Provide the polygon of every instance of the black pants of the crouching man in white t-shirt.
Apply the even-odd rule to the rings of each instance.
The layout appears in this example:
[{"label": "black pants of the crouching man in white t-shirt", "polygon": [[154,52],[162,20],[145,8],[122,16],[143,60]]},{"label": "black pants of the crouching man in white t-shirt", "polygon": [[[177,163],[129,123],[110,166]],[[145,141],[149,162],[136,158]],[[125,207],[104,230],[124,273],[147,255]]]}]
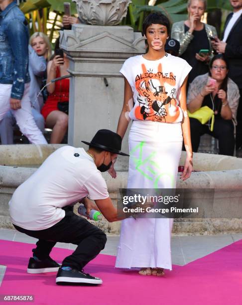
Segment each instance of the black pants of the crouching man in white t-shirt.
[{"label": "black pants of the crouching man in white t-shirt", "polygon": [[33,255],[40,260],[49,256],[56,242],[78,245],[72,255],[63,260],[62,266],[82,270],[104,249],[107,237],[102,230],[86,219],[71,211],[65,211],[65,213],[65,217],[61,221],[48,229],[31,231],[15,225],[14,227],[19,232],[39,239],[36,243],[37,248],[32,251]]}]

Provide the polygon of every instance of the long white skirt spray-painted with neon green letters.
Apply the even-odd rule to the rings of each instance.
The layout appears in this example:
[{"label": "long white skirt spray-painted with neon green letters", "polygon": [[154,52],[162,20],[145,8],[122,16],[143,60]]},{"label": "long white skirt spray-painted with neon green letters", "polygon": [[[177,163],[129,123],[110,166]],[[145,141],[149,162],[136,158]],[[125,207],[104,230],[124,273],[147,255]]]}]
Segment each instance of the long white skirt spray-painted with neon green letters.
[{"label": "long white skirt spray-painted with neon green letters", "polygon": [[[133,121],[127,188],[175,188],[182,149],[181,123]],[[116,267],[172,270],[170,218],[127,218],[121,223]]]}]

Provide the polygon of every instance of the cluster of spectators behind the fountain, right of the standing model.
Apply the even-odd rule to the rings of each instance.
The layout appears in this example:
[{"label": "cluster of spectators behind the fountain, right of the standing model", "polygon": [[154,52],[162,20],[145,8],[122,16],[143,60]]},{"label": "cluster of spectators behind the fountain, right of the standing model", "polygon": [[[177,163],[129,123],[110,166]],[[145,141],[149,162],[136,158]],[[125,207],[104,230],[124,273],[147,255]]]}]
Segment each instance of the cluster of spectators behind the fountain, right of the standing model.
[{"label": "cluster of spectators behind the fountain, right of the standing model", "polygon": [[190,113],[208,106],[211,120],[202,124],[190,118],[191,141],[198,151],[200,137],[218,139],[219,153],[234,155],[242,149],[242,0],[230,0],[233,8],[220,40],[216,28],[201,21],[206,0],[188,0],[188,19],[173,24],[171,38],[180,43],[179,56],[192,67],[188,78],[187,104]]}]

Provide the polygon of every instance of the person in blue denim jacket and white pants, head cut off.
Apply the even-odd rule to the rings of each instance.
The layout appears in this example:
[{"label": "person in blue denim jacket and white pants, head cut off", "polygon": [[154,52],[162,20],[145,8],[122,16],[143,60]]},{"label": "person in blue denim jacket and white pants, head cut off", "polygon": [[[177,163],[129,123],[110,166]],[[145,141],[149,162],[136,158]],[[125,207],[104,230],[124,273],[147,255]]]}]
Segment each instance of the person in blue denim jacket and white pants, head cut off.
[{"label": "person in blue denim jacket and white pants, head cut off", "polygon": [[28,27],[15,1],[0,1],[0,121],[11,109],[32,144],[47,144],[29,101]]}]

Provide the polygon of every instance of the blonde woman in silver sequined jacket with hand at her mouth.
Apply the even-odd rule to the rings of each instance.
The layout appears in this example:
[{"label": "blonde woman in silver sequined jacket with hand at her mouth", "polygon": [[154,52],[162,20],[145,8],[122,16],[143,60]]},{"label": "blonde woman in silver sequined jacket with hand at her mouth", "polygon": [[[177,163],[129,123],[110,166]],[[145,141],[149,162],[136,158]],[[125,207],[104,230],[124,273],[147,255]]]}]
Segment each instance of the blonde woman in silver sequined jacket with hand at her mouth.
[{"label": "blonde woman in silver sequined jacket with hand at her mouth", "polygon": [[188,0],[188,19],[175,22],[171,29],[171,38],[180,42],[179,56],[193,67],[188,84],[196,76],[208,72],[212,54],[210,37],[218,36],[214,26],[201,21],[206,7],[206,0]]}]

